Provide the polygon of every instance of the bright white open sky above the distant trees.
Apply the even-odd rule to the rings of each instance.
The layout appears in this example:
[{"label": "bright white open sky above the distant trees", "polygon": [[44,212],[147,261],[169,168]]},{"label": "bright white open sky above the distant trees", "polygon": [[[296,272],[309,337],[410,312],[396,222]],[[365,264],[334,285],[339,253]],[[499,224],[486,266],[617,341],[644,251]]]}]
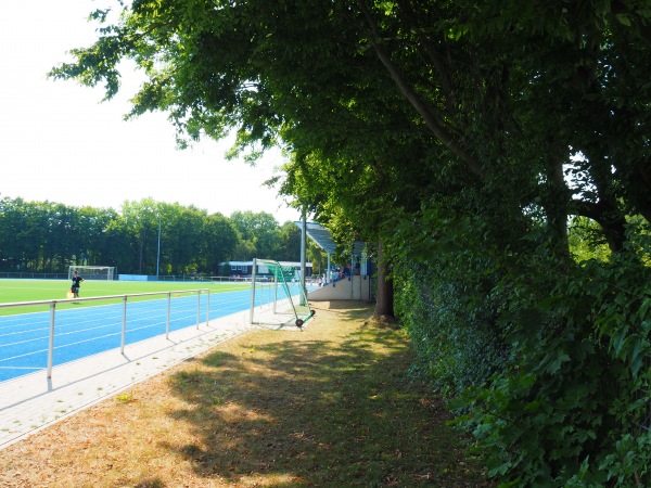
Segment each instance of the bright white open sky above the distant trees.
[{"label": "bright white open sky above the distant trees", "polygon": [[116,209],[152,197],[226,216],[252,210],[281,223],[298,220],[276,191],[261,187],[282,164],[279,152],[252,168],[225,159],[226,141],[178,151],[165,114],[124,121],[140,82],[130,69],[117,98],[104,103],[101,88],[46,78],[52,66],[71,61],[66,51],[93,41],[95,25],[86,18],[102,3],[0,3],[0,197]]}]

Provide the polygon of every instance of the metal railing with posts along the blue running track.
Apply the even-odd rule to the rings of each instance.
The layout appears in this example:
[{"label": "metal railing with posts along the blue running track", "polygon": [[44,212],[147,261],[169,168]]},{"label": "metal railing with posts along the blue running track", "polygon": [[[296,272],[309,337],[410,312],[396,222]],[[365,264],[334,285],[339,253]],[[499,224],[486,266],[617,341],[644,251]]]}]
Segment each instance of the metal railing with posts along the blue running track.
[{"label": "metal railing with posts along the blue running track", "polygon": [[[20,301],[20,303],[10,303],[10,304],[0,304],[0,308],[15,308],[15,307],[31,307],[31,306],[48,306],[50,310],[50,324],[49,324],[49,341],[48,341],[48,361],[47,361],[47,371],[48,378],[52,377],[52,367],[53,367],[53,358],[54,358],[54,330],[56,322],[56,305],[59,304],[78,304],[85,301],[99,301],[99,300],[122,300],[123,309],[122,309],[122,332],[120,332],[120,354],[125,352],[126,345],[126,335],[127,335],[127,304],[129,298],[133,297],[148,297],[155,295],[166,295],[167,296],[167,308],[166,308],[166,320],[165,320],[165,338],[169,338],[169,323],[170,323],[170,314],[171,314],[171,297],[173,295],[178,296],[181,294],[196,294],[196,329],[201,323],[201,296],[202,293],[205,293],[207,296],[206,304],[206,324],[209,322],[210,318],[210,291],[209,288],[197,288],[197,290],[182,290],[176,292],[152,292],[152,293],[136,293],[128,295],[108,295],[108,296],[98,296],[98,297],[89,297],[89,298],[66,298],[66,299],[53,299],[53,300],[39,300],[39,301]],[[139,300],[137,303],[142,303]],[[69,309],[67,309],[69,310]]]}]

